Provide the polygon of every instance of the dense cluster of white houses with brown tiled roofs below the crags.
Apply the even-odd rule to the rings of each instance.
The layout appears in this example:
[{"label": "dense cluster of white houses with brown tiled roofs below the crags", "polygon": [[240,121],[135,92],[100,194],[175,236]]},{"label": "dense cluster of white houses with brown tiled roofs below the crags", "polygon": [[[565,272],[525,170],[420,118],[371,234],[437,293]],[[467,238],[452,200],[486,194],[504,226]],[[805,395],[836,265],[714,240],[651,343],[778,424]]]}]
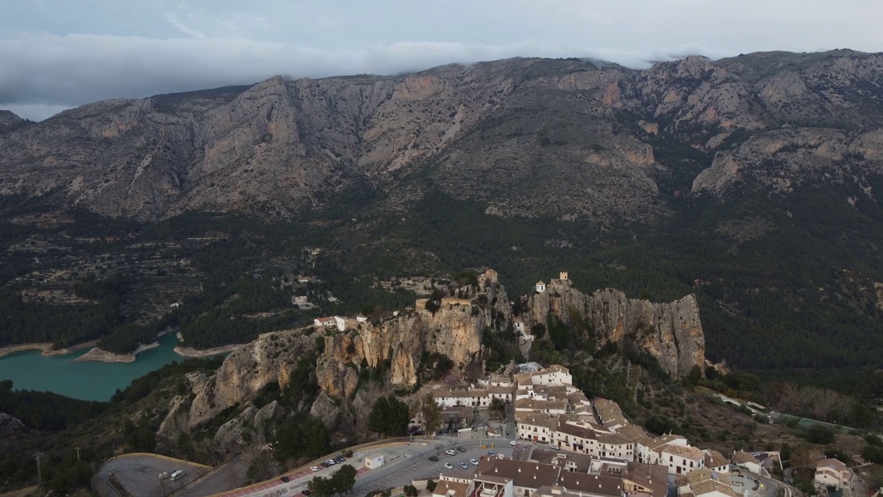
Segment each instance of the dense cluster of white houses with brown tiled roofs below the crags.
[{"label": "dense cluster of white houses with brown tiled roofs below the crags", "polygon": [[665,497],[669,479],[685,497],[742,497],[728,478],[730,468],[768,478],[763,461],[778,457],[743,451],[725,457],[677,434],[652,437],[630,424],[615,401],[586,398],[557,364],[519,364],[511,375],[487,375],[467,390],[432,395],[449,418],[470,417],[495,400],[511,404],[517,431],[511,446],[535,447],[524,460],[488,458],[468,477],[442,472],[433,493],[439,497]]}]

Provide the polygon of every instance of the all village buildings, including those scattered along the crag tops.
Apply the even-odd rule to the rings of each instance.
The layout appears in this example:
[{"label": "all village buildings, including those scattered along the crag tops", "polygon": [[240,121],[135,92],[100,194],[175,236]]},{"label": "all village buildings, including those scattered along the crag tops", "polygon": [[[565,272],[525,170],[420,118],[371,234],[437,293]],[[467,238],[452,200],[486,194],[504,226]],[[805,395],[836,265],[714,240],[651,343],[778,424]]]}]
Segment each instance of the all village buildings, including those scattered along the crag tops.
[{"label": "all village buildings, including those scattered along the crag tops", "polygon": [[[561,271],[558,280],[568,278]],[[485,271],[479,286],[494,279],[495,271]],[[537,282],[536,293],[546,290],[545,282]],[[410,309],[424,310],[426,302],[419,299]],[[444,307],[471,301],[446,297],[440,303]],[[392,316],[396,315],[398,311]],[[367,320],[359,313],[317,317],[313,325],[345,332]],[[513,325],[519,345],[529,348],[533,337],[524,322],[514,317]],[[446,465],[434,497],[773,497],[797,492],[772,477],[774,466],[782,470],[778,452],[738,450],[723,455],[694,447],[676,433],[654,437],[631,424],[615,401],[586,397],[573,385],[568,368],[559,364],[510,364],[468,385],[434,388],[431,395],[447,426],[442,435],[474,437],[471,432],[479,426],[481,436],[514,449],[510,456],[498,450],[480,462],[472,459],[472,471]],[[486,424],[492,409],[504,413],[498,426]],[[411,429],[419,428],[421,421],[418,413]],[[466,469],[466,464],[459,465]],[[837,459],[816,462],[813,483],[821,491],[850,497],[858,479]]]}]

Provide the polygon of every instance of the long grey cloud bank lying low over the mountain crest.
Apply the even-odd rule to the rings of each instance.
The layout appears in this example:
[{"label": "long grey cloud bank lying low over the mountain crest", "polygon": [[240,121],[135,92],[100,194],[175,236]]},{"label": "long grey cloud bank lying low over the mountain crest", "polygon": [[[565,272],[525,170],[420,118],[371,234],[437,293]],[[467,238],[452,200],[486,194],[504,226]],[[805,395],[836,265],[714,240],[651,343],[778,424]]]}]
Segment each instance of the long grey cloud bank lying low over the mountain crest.
[{"label": "long grey cloud bank lying low over the mountain crest", "polygon": [[[174,18],[172,18],[174,19]],[[187,30],[184,25],[182,31]],[[141,98],[162,93],[248,84],[275,74],[288,78],[376,73],[398,74],[453,62],[504,57],[592,57],[631,67],[674,50],[592,50],[536,42],[479,45],[453,42],[374,44],[360,50],[321,50],[283,42],[240,38],[156,39],[108,34],[19,34],[0,38],[0,108],[30,119],[45,112],[106,98]]]}]

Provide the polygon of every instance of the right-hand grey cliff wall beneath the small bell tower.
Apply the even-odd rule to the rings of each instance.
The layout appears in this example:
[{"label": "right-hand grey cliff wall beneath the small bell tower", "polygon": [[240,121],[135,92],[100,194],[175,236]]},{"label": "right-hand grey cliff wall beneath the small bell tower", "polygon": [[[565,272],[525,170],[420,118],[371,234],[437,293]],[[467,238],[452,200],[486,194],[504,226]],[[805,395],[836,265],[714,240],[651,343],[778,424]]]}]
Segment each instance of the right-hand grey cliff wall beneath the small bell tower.
[{"label": "right-hand grey cliff wall beneath the small bell tower", "polygon": [[599,346],[626,337],[656,357],[662,369],[675,378],[704,367],[705,334],[696,298],[687,295],[669,303],[628,299],[614,289],[583,294],[568,280],[554,279],[545,292],[528,299],[525,327],[547,324],[549,315],[570,324],[571,311],[583,317],[597,334]]}]

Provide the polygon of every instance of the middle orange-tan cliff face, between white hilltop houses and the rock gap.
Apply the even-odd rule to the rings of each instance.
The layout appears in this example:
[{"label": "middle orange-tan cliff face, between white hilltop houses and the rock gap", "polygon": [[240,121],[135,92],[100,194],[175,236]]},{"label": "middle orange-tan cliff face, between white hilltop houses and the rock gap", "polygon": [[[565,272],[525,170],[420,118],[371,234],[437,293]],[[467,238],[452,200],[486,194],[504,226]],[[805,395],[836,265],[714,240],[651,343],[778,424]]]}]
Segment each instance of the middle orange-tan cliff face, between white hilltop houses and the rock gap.
[{"label": "middle orange-tan cliff face, between white hilltop houses and the rock gap", "polygon": [[350,399],[363,360],[372,368],[388,363],[393,385],[412,386],[424,353],[443,354],[463,368],[480,360],[483,333],[501,329],[510,320],[505,289],[489,284],[471,304],[442,303],[434,313],[415,310],[378,324],[361,323],[348,333],[329,334],[316,366],[319,386],[328,394]]}]

